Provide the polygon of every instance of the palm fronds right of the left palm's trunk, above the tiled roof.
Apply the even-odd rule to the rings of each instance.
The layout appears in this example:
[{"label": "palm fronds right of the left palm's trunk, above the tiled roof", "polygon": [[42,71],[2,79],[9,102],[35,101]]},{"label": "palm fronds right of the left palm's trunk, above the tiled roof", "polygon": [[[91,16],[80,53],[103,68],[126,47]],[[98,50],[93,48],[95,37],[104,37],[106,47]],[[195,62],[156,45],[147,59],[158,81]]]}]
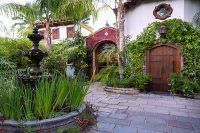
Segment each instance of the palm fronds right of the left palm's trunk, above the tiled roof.
[{"label": "palm fronds right of the left palm's trunk, above the tiled roof", "polygon": [[78,31],[83,27],[92,32],[93,28],[89,26],[88,21],[91,16],[93,21],[97,19],[98,10],[93,0],[76,0],[76,2],[68,0],[60,7],[59,14],[62,15],[61,18],[72,20],[77,25]]}]

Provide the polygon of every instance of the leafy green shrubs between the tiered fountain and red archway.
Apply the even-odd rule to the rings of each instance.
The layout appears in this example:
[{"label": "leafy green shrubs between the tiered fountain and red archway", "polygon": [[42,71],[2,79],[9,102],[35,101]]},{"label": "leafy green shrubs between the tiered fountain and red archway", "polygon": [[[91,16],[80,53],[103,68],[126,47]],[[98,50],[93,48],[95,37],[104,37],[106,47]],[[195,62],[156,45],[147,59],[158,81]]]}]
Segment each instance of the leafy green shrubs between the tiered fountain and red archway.
[{"label": "leafy green shrubs between the tiered fountain and red archway", "polygon": [[63,71],[66,69],[66,63],[73,63],[77,74],[80,70],[85,71],[88,67],[89,53],[84,45],[84,37],[76,32],[72,40],[52,45],[49,56],[42,62],[42,67],[49,72]]}]

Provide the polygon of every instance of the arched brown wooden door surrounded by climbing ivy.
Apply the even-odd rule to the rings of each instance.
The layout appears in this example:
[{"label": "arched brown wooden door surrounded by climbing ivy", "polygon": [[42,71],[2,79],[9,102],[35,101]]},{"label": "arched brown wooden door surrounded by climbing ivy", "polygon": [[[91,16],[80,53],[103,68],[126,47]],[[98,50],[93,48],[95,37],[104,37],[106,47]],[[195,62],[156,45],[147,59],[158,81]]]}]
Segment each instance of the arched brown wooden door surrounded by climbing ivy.
[{"label": "arched brown wooden door surrounded by climbing ivy", "polygon": [[176,45],[155,45],[147,51],[147,73],[151,76],[151,91],[167,92],[170,73],[179,73],[180,50]]}]

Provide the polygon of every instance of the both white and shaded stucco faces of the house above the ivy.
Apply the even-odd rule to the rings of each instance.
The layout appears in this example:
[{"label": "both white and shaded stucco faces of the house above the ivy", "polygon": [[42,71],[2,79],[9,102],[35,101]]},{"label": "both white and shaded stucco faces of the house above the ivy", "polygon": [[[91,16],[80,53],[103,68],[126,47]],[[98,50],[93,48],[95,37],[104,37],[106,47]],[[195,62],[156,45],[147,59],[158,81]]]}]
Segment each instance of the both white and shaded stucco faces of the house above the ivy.
[{"label": "both white and shaded stucco faces of the house above the ivy", "polygon": [[[168,14],[162,4],[169,4],[172,13]],[[200,12],[200,0],[127,0],[125,3],[125,36],[130,35],[131,39],[135,39],[149,23],[163,21],[156,19],[153,14],[158,6],[160,6],[158,13],[163,11],[169,15],[166,19],[179,18],[192,22],[194,15]]]}]

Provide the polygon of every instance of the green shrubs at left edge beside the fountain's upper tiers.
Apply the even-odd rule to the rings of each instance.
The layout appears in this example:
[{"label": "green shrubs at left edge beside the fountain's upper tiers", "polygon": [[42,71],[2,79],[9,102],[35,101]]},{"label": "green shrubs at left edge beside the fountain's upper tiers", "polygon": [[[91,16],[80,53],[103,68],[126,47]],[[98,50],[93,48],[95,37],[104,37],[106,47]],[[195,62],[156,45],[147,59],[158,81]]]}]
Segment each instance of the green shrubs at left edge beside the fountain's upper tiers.
[{"label": "green shrubs at left edge beside the fountain's upper tiers", "polygon": [[[28,39],[0,38],[0,58],[4,58],[7,62],[10,62],[9,64],[17,68],[28,66],[29,60],[22,54],[30,49],[31,42]],[[6,64],[8,65],[8,63]]]}]

